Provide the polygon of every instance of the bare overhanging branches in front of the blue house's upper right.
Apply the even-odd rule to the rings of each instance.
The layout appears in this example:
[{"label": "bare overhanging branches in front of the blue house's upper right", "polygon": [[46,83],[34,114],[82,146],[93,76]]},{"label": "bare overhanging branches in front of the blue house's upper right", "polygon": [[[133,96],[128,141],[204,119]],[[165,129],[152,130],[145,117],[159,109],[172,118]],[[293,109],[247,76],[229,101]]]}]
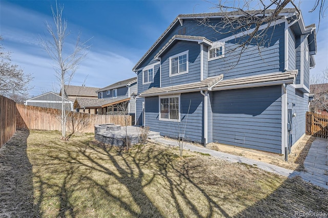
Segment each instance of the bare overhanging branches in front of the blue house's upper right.
[{"label": "bare overhanging branches in front of the blue house's upper right", "polygon": [[[235,40],[234,45],[225,51],[230,55],[226,55],[224,58],[234,60],[229,65],[222,67],[227,69],[234,68],[245,51],[258,50],[257,52],[261,56],[262,49],[271,43],[270,27],[276,24],[278,19],[283,18],[280,13],[284,12],[285,8],[294,8],[298,13],[297,16],[300,14],[299,5],[294,0],[219,0],[217,4],[212,4],[212,8],[220,14],[220,21],[212,22],[211,15],[198,21],[201,25],[210,27],[217,33],[235,36],[231,37]],[[318,28],[326,9],[325,0],[316,0],[314,7],[310,10],[310,12],[319,10]]]}]

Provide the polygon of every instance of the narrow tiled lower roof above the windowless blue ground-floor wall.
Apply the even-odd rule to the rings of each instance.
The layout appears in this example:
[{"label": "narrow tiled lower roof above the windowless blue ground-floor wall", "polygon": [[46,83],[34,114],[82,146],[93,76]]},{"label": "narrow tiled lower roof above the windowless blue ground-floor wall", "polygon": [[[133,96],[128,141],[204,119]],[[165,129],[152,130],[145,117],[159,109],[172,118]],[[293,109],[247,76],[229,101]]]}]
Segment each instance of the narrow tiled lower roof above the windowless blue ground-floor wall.
[{"label": "narrow tiled lower roof above the windowless blue ground-floor wall", "polygon": [[213,91],[242,89],[278,84],[292,84],[296,78],[297,70],[246,76],[220,81],[213,87]]}]

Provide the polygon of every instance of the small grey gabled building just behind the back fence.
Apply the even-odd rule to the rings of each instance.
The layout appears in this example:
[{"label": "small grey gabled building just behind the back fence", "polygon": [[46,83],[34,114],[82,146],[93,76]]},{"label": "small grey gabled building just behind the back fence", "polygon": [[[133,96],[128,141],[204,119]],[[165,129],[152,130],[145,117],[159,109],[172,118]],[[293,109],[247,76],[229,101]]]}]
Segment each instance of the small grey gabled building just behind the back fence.
[{"label": "small grey gabled building just behind the back fence", "polygon": [[[35,96],[33,98],[29,98],[24,101],[25,105],[32,105],[38,107],[49,107],[61,110],[61,96],[57,95],[53,92],[47,92],[42,95]],[[65,99],[65,110],[72,111],[73,110],[73,101],[69,99]]]}]

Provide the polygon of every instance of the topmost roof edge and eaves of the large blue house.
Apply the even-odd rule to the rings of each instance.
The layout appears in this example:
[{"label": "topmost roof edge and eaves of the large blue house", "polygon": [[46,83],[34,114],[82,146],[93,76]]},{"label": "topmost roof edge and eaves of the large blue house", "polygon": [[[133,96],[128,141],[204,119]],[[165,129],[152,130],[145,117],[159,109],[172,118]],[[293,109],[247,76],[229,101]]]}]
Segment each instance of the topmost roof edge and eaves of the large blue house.
[{"label": "topmost roof edge and eaves of the large blue house", "polygon": [[[273,14],[276,13],[275,9],[268,9],[265,10],[265,14]],[[295,15],[297,12],[294,8],[285,8],[282,9],[280,11],[280,15],[285,15],[285,16],[293,16]],[[150,53],[157,47],[157,45],[159,44],[159,42],[166,36],[166,34],[172,29],[173,26],[175,26],[178,22],[180,23],[180,25],[182,26],[183,24],[183,19],[203,19],[206,17],[211,17],[211,18],[216,18],[216,17],[223,17],[223,16],[263,16],[263,11],[262,10],[252,10],[252,11],[231,11],[228,13],[199,13],[199,14],[179,14],[174,20],[173,22],[169,25],[169,27],[159,36],[159,38],[154,42],[154,44],[149,48],[149,50],[144,54],[144,56],[142,56],[140,58],[140,60],[135,64],[135,66],[133,67],[132,71],[136,71],[139,67],[140,64],[150,55]],[[301,23],[301,29],[302,31],[310,31],[310,33],[312,33],[312,31],[315,29],[315,25],[309,25],[309,26],[304,26],[304,22],[302,17],[300,16],[300,19],[298,20],[298,22]],[[312,35],[312,34],[311,34]],[[315,39],[315,31],[313,34],[313,47],[316,50],[316,39]],[[195,36],[197,37],[197,36]],[[312,36],[310,36],[312,37]],[[313,53],[315,54],[315,52]],[[157,54],[155,55],[155,57],[158,57]],[[312,58],[312,64],[314,66],[314,58]]]}]

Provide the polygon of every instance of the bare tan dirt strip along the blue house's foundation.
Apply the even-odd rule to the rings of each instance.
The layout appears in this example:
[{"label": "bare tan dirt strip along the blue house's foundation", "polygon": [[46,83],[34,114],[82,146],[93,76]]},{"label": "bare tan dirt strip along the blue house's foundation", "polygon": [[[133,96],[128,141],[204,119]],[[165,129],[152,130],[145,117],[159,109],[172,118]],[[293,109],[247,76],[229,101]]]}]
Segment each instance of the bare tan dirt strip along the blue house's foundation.
[{"label": "bare tan dirt strip along the blue house's foundation", "polygon": [[288,156],[288,162],[284,160],[283,155],[273,154],[270,152],[257,151],[236,146],[223,145],[219,143],[210,143],[206,147],[209,149],[225,152],[232,155],[242,156],[265,163],[274,164],[286,169],[304,171],[304,160],[314,141],[312,136],[303,136],[301,140],[292,146],[292,152]]}]

